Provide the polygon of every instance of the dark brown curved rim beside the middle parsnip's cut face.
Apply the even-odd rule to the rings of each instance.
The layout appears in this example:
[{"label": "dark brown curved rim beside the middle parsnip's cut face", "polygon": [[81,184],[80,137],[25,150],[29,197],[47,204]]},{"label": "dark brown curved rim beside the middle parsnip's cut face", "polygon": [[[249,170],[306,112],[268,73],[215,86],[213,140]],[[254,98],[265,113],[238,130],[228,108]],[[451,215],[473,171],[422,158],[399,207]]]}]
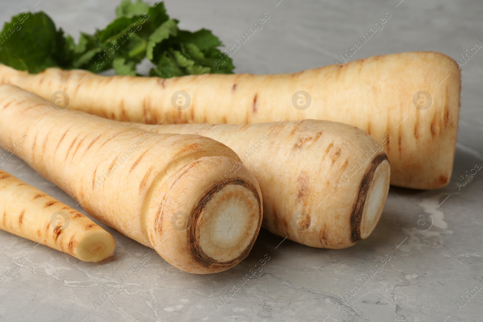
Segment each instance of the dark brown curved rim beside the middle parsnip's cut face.
[{"label": "dark brown curved rim beside the middle parsnip's cut face", "polygon": [[364,211],[364,204],[366,203],[367,194],[369,192],[370,183],[374,178],[374,173],[376,172],[376,168],[387,159],[387,155],[385,153],[381,153],[376,155],[371,162],[370,167],[367,169],[362,181],[359,185],[359,193],[357,194],[357,198],[355,199],[354,206],[352,207],[351,212],[351,241],[357,242],[361,240],[361,222],[362,222],[362,213]]}]

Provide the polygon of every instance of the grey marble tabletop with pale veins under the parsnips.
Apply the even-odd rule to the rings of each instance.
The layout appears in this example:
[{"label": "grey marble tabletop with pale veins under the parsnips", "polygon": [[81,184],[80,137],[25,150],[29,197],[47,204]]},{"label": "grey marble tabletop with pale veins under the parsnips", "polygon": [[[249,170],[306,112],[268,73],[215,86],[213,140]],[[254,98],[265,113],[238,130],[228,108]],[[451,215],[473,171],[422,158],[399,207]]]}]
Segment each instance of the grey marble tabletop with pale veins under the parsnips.
[{"label": "grey marble tabletop with pale veins under the parsnips", "polygon": [[[0,20],[43,10],[77,36],[80,30],[102,28],[117,5],[117,0],[37,1],[1,1]],[[237,72],[293,72],[331,64],[385,13],[391,17],[384,28],[354,59],[413,50],[460,59],[476,42],[483,44],[480,0],[279,1],[168,1],[166,7],[181,28],[210,28],[230,47],[269,13],[263,28],[234,54]],[[376,229],[355,246],[315,249],[262,229],[241,264],[198,276],[102,224],[117,243],[103,264],[84,263],[0,231],[0,275],[23,258],[0,284],[0,321],[482,321],[483,291],[476,290],[483,287],[483,173],[457,185],[476,163],[483,165],[482,62],[478,51],[461,67],[450,184],[436,191],[391,187]],[[2,168],[72,207],[77,204],[14,156]],[[429,230],[414,224],[418,213],[433,218]],[[270,259],[263,270],[243,283],[264,257]],[[142,258],[148,258],[144,265],[135,266]],[[377,268],[381,260],[385,265]],[[240,289],[227,295],[235,285]],[[462,302],[467,294],[475,295]]]}]

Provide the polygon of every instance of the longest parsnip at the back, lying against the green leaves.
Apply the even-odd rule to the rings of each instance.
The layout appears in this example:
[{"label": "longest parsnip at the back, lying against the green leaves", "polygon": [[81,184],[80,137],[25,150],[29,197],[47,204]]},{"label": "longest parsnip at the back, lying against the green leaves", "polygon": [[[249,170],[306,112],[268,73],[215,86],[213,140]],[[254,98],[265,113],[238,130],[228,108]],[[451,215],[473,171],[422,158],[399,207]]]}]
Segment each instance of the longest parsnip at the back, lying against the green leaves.
[{"label": "longest parsnip at the back, lying against the green leaves", "polygon": [[374,56],[293,74],[165,80],[58,69],[32,75],[1,66],[0,81],[47,99],[63,90],[70,108],[121,121],[157,124],[166,117],[163,123],[246,124],[320,118],[351,124],[376,140],[389,137],[384,150],[391,183],[407,188],[441,188],[453,168],[460,70],[440,53]]}]

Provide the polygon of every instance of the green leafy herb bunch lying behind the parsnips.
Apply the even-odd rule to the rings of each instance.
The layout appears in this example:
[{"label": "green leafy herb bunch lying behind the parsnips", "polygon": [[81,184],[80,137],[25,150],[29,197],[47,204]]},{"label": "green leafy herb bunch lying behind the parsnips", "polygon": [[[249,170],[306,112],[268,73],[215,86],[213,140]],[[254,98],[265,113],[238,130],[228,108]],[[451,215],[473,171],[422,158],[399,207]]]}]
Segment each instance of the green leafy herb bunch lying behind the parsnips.
[{"label": "green leafy herb bunch lying behind the parsnips", "polygon": [[0,33],[0,63],[37,73],[48,67],[136,75],[147,57],[155,68],[151,76],[169,78],[189,74],[232,73],[231,58],[218,47],[222,42],[210,30],[180,30],[163,2],[123,0],[116,18],[93,35],[81,32],[79,41],[57,29],[44,12],[22,13],[4,24]]}]

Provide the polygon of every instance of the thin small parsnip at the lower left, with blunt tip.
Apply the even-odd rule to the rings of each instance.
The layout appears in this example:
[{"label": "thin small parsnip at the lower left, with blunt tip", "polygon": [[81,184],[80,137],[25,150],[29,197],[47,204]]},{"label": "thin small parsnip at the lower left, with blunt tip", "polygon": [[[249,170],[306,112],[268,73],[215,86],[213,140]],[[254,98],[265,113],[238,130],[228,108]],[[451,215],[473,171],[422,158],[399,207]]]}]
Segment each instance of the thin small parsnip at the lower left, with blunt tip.
[{"label": "thin small parsnip at the lower left, with blunt tip", "polygon": [[0,170],[0,229],[84,262],[114,254],[114,238],[82,213]]}]

